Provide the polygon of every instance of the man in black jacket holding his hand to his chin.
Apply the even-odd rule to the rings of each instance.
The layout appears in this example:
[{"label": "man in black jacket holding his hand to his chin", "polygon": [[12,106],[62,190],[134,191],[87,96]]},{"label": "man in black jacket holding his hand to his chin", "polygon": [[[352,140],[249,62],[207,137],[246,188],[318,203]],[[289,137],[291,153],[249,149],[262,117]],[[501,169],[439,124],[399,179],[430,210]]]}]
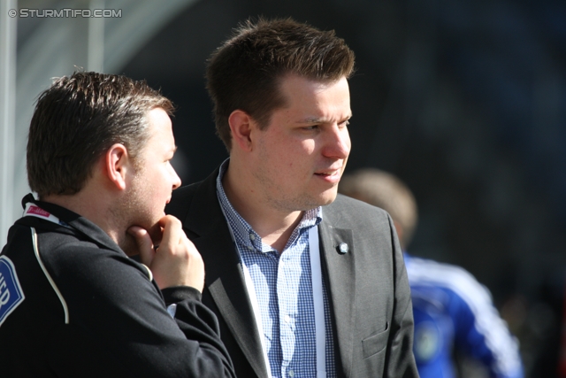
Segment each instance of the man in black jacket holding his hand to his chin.
[{"label": "man in black jacket holding his hand to his chin", "polygon": [[171,112],[145,82],[101,73],[40,96],[27,144],[38,199],[24,198],[0,254],[0,376],[235,376],[200,300],[203,259],[164,215],[180,186]]}]

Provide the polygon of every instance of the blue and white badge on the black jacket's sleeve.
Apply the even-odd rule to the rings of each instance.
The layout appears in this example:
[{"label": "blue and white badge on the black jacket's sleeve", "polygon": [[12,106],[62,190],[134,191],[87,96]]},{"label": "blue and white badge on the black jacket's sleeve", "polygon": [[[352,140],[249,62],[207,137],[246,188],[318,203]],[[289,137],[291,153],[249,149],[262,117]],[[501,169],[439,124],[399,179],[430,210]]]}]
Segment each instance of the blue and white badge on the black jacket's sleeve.
[{"label": "blue and white badge on the black jacket's sleeve", "polygon": [[0,256],[0,327],[25,298],[11,259]]}]

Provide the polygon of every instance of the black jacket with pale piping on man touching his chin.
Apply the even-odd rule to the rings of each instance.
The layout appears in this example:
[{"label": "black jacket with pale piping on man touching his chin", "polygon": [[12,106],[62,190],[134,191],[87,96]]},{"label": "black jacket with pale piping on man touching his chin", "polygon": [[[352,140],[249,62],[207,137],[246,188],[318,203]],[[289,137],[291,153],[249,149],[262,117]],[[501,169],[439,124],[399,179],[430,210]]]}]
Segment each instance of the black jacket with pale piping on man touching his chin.
[{"label": "black jacket with pale piping on man touching his chin", "polygon": [[[0,298],[8,291],[6,305],[17,305],[11,312],[0,307],[0,376],[235,376],[218,320],[196,289],[162,292],[149,269],[95,224],[35,203],[70,227],[24,217],[10,228],[0,254]],[[1,282],[15,276],[20,300],[17,284]],[[170,304],[177,304],[175,319]]]}]

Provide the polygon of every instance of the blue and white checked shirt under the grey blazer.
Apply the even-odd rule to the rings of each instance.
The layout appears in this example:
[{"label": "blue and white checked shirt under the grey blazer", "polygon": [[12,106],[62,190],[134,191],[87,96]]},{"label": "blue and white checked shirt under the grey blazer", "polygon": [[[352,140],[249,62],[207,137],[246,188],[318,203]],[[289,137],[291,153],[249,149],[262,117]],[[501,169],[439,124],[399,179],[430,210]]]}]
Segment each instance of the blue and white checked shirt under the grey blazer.
[{"label": "blue and white checked shirt under the grey blazer", "polygon": [[[217,195],[234,243],[254,284],[259,306],[264,345],[273,378],[316,378],[317,349],[315,310],[310,271],[309,228],[322,220],[320,207],[305,212],[279,255],[262,243],[249,223],[236,212],[222,187],[226,160],[217,178]],[[326,336],[326,377],[336,377],[333,330],[328,294],[323,280]]]}]

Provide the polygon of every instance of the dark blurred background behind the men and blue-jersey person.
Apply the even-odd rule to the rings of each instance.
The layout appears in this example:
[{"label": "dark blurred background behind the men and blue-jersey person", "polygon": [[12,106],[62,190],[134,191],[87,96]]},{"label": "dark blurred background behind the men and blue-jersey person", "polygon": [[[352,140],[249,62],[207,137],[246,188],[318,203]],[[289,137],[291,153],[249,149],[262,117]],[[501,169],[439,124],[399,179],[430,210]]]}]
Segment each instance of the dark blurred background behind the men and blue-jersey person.
[{"label": "dark blurred background behind the men and blue-jersey person", "polygon": [[238,22],[293,17],[356,52],[347,171],[375,166],[414,191],[409,251],[463,266],[518,336],[528,377],[558,376],[566,266],[566,2],[206,0],[123,73],[178,106],[184,184],[227,157],[205,61]]}]

